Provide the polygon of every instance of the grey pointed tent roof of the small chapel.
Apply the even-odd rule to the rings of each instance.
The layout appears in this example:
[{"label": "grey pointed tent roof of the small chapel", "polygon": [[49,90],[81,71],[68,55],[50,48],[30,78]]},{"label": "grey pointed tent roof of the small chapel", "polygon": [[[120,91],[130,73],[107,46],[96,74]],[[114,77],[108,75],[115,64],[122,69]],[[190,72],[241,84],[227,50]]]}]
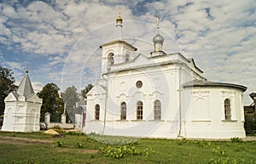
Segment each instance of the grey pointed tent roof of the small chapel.
[{"label": "grey pointed tent roof of the small chapel", "polygon": [[25,98],[30,94],[35,93],[32,88],[32,83],[30,82],[27,70],[26,70],[26,75],[23,77],[22,81],[20,82],[20,86],[17,90],[17,93],[20,96],[24,96]]}]

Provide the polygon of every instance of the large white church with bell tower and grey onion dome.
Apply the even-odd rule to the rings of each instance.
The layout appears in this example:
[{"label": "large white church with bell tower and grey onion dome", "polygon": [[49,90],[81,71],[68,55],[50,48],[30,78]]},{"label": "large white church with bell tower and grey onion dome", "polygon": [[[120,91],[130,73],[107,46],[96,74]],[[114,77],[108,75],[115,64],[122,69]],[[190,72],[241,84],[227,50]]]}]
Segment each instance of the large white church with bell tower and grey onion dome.
[{"label": "large white church with bell tower and grey onion dome", "polygon": [[[159,22],[159,19],[157,19]],[[116,27],[122,28],[119,14]],[[153,37],[150,54],[125,40],[104,43],[101,79],[87,93],[85,133],[148,138],[244,138],[241,85],[209,82],[194,59],[163,51]]]}]

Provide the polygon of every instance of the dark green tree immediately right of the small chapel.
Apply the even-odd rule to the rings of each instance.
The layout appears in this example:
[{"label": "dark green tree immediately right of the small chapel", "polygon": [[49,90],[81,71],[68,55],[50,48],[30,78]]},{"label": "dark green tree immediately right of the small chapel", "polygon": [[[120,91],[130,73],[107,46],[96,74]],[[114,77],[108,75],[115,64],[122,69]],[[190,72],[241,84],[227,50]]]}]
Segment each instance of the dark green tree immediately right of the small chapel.
[{"label": "dark green tree immediately right of the small chapel", "polygon": [[43,99],[43,105],[41,107],[41,118],[44,120],[44,114],[49,112],[52,114],[51,120],[53,122],[61,121],[61,114],[64,111],[63,99],[59,94],[60,88],[51,82],[44,86],[41,92],[38,93],[38,97]]}]

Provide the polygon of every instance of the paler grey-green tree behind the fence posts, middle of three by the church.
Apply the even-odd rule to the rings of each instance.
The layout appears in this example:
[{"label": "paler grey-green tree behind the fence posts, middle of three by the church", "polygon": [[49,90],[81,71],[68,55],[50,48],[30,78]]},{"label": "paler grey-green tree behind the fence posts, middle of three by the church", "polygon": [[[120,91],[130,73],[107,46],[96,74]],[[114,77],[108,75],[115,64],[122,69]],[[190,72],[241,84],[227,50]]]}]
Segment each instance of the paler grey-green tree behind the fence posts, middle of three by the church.
[{"label": "paler grey-green tree behind the fence posts, middle of three by the church", "polygon": [[74,106],[77,102],[79,102],[79,94],[77,93],[77,88],[74,86],[67,88],[64,93],[61,93],[61,97],[64,100],[69,119],[74,122]]}]

